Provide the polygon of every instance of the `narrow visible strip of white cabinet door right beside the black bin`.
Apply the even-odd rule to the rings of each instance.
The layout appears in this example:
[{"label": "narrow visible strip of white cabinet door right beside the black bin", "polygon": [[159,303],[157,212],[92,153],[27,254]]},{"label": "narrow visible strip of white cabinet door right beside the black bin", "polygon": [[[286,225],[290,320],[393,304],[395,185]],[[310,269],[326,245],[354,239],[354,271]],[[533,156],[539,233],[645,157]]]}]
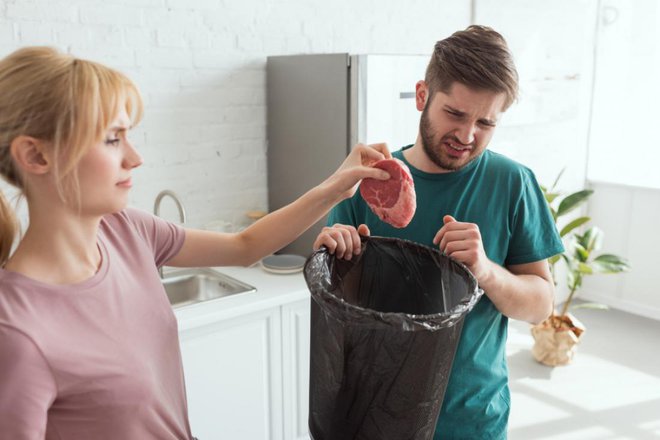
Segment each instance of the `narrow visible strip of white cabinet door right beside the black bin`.
[{"label": "narrow visible strip of white cabinet door right beside the black bin", "polygon": [[309,439],[310,298],[282,306],[284,438]]}]

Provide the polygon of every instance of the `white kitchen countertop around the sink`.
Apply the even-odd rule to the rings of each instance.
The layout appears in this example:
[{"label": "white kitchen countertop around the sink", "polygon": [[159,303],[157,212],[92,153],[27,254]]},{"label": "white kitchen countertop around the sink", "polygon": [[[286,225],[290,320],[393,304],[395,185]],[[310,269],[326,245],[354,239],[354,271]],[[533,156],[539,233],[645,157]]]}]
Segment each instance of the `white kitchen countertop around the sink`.
[{"label": "white kitchen countertop around the sink", "polygon": [[256,287],[257,291],[175,308],[174,314],[179,321],[179,332],[309,297],[302,272],[288,275],[272,274],[263,270],[260,264],[253,267],[214,269]]}]

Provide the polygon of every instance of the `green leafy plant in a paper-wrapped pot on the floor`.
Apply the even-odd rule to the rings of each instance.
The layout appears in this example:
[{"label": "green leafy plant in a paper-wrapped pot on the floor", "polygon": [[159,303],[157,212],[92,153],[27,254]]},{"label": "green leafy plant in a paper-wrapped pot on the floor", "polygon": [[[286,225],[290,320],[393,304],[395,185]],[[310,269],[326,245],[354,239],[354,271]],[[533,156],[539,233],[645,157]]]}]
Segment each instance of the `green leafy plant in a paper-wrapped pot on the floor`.
[{"label": "green leafy plant in a paper-wrapped pot on the floor", "polygon": [[564,223],[562,218],[582,206],[593,194],[593,190],[590,189],[583,189],[569,195],[556,191],[555,188],[563,173],[564,170],[559,173],[550,188],[541,186],[566,248],[563,253],[550,258],[549,263],[555,286],[559,285],[556,265],[559,261],[565,263],[565,287],[568,290],[568,298],[564,302],[561,312],[557,313],[553,310],[553,314],[549,318],[532,327],[534,337],[532,355],[538,362],[550,366],[570,363],[575,355],[580,337],[585,331],[584,325],[569,313],[569,309],[607,308],[602,304],[594,303],[573,305],[573,300],[582,287],[584,277],[597,273],[620,273],[630,269],[628,261],[623,257],[614,254],[595,255],[601,248],[603,231],[596,226],[589,226],[579,233],[591,221],[590,217],[576,217],[562,226]]}]

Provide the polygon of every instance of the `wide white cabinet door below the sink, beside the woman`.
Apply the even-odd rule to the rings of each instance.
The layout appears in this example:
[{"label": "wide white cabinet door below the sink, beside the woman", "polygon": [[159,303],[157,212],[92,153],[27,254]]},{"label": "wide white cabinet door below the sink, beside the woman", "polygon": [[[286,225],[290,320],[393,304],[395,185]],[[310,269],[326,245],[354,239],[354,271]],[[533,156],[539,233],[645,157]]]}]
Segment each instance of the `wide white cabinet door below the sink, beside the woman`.
[{"label": "wide white cabinet door below the sink, beside the woman", "polygon": [[282,439],[280,308],[180,335],[188,411],[200,439]]}]

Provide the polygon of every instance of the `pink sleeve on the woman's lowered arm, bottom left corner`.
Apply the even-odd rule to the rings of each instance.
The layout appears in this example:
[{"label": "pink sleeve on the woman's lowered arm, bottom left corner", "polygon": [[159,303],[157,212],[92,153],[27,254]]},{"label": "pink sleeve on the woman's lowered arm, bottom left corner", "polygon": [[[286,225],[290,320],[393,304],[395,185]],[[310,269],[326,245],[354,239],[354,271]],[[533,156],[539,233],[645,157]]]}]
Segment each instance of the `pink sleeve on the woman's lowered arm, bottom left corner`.
[{"label": "pink sleeve on the woman's lowered arm, bottom left corner", "polygon": [[3,438],[43,439],[57,387],[34,342],[0,323],[0,432]]}]

